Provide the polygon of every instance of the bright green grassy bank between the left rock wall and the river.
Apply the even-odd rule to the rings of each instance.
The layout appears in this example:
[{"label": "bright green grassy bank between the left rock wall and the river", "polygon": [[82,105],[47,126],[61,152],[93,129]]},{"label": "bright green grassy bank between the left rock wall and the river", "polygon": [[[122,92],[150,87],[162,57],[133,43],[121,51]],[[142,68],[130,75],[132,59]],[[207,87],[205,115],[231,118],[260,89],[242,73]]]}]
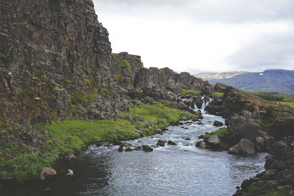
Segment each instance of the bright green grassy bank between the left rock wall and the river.
[{"label": "bright green grassy bank between the left rock wall and the river", "polygon": [[[196,115],[184,113],[177,109],[166,107],[162,104],[147,105],[139,103],[137,107],[130,108],[130,112],[123,113],[123,116],[130,114],[133,118],[140,116],[145,120],[153,121],[155,125],[150,128],[149,123],[129,122],[123,119],[116,120],[89,120],[67,119],[56,121],[50,124],[42,124],[43,129],[52,137],[47,137],[47,142],[37,146],[43,149],[44,153],[32,153],[20,155],[7,162],[0,163],[0,177],[12,176],[17,182],[33,181],[39,177],[43,167],[50,167],[58,157],[66,152],[78,152],[88,144],[99,141],[112,141],[114,139],[132,140],[139,138],[135,132],[136,128],[144,135],[152,135],[156,128],[166,128],[169,123],[180,121],[182,117],[196,119]],[[149,127],[149,128],[148,128]],[[37,130],[35,132],[39,133]],[[11,145],[15,147],[15,145]],[[0,147],[2,150],[2,147]]]}]

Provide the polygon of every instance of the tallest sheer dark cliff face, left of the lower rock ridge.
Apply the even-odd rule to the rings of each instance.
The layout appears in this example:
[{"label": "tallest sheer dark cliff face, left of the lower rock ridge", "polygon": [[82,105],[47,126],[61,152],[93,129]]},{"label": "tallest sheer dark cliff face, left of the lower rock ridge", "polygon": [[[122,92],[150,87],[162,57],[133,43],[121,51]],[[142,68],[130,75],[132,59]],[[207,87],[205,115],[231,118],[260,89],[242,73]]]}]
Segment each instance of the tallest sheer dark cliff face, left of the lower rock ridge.
[{"label": "tallest sheer dark cliff face, left of the lower rock ridge", "polygon": [[[41,122],[46,116],[71,117],[69,89],[81,92],[95,78],[111,85],[112,60],[107,30],[91,0],[1,0],[1,104],[19,117]],[[9,108],[5,112],[8,112]]]}]

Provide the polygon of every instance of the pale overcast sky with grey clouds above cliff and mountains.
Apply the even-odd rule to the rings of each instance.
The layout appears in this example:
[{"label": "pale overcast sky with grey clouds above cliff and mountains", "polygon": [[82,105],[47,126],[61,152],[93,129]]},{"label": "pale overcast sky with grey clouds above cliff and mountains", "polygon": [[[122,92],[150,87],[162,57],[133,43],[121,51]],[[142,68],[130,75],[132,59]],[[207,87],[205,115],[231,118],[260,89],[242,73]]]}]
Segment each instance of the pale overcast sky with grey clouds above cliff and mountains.
[{"label": "pale overcast sky with grey clouds above cliff and mountains", "polygon": [[93,0],[114,53],[175,72],[294,70],[294,0]]}]

